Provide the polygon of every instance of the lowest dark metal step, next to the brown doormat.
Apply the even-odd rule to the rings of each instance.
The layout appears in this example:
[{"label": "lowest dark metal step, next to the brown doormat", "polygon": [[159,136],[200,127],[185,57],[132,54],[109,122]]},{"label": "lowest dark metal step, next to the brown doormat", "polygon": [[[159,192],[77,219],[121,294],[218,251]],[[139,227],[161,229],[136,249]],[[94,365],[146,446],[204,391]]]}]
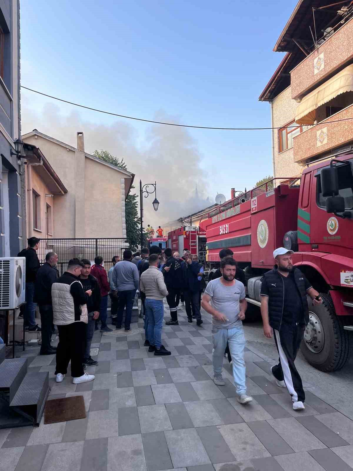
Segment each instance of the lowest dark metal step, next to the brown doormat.
[{"label": "lowest dark metal step, next to the brown doormat", "polygon": [[39,425],[49,394],[49,373],[27,373],[19,386],[10,408]]}]

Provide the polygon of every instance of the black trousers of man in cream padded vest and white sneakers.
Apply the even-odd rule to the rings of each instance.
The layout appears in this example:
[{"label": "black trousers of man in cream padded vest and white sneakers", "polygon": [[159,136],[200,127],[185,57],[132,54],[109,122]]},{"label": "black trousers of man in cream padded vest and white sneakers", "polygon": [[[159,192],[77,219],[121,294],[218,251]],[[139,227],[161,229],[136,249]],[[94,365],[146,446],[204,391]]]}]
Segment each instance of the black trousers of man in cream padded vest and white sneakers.
[{"label": "black trousers of man in cream padded vest and white sneakers", "polygon": [[83,375],[82,362],[86,348],[86,329],[87,324],[84,322],[57,326],[59,344],[56,350],[55,374],[66,374],[71,360],[71,376],[78,378]]}]

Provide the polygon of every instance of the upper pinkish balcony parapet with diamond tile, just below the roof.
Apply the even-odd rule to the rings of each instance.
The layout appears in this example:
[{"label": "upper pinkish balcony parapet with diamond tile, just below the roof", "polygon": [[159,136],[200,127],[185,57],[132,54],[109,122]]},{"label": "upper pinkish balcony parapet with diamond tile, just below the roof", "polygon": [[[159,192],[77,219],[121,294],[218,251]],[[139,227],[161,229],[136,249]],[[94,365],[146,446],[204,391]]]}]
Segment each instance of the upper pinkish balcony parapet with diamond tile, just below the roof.
[{"label": "upper pinkish balcony parapet with diamond tile, just below the roof", "polygon": [[318,46],[290,73],[293,99],[305,95],[353,59],[353,18]]}]

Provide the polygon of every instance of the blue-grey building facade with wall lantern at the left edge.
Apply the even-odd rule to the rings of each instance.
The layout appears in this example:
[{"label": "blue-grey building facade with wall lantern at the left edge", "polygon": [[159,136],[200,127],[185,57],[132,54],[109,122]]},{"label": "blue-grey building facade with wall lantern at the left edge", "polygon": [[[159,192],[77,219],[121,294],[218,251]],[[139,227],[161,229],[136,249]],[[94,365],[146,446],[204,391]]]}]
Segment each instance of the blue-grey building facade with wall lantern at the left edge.
[{"label": "blue-grey building facade with wall lantern at the left edge", "polygon": [[[0,1],[0,257],[16,256],[25,238],[24,163],[15,153],[21,137],[19,1]],[[27,245],[25,243],[25,245]]]}]

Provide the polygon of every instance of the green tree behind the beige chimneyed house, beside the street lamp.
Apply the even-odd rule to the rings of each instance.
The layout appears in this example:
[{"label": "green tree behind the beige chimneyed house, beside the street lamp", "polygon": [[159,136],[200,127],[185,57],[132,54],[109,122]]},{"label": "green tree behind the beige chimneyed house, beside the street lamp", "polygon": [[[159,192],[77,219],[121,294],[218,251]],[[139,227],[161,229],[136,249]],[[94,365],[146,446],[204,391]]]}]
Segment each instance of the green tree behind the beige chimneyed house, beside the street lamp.
[{"label": "green tree behind the beige chimneyed house, beside the street lamp", "polygon": [[[98,159],[104,160],[104,162],[111,163],[115,167],[119,167],[122,170],[128,170],[124,159],[118,159],[114,155],[110,154],[106,150],[95,150],[93,155]],[[135,187],[131,187],[134,189]],[[125,224],[126,224],[126,238],[128,240],[129,248],[132,251],[137,250],[137,246],[140,245],[140,222],[141,219],[138,216],[138,198],[137,195],[129,193],[125,200]],[[144,231],[144,229],[143,229]],[[144,245],[147,245],[147,237],[144,232]]]}]

